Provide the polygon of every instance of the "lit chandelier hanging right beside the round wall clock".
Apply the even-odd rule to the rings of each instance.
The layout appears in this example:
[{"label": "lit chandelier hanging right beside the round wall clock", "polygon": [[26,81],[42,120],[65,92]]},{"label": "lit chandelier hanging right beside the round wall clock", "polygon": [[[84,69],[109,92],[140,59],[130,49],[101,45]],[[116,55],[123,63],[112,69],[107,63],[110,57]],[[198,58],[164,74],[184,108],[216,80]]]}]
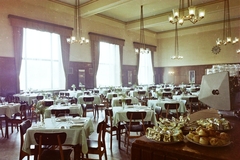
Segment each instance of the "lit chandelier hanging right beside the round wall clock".
[{"label": "lit chandelier hanging right beside the round wall clock", "polygon": [[231,22],[230,22],[230,11],[229,11],[229,0],[224,0],[224,21],[223,21],[223,39],[218,38],[216,40],[217,46],[227,45],[228,43],[235,44],[239,41],[237,37],[232,40],[231,37]]}]

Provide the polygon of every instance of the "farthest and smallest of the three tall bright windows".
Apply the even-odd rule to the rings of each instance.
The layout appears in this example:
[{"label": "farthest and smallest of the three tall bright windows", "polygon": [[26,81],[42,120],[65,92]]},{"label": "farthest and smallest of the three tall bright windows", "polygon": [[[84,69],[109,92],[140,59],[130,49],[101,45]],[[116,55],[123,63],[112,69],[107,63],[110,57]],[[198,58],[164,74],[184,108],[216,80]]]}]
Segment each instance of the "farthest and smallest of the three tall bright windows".
[{"label": "farthest and smallest of the three tall bright windows", "polygon": [[148,85],[154,84],[152,54],[139,53],[139,70],[138,70],[138,84]]}]

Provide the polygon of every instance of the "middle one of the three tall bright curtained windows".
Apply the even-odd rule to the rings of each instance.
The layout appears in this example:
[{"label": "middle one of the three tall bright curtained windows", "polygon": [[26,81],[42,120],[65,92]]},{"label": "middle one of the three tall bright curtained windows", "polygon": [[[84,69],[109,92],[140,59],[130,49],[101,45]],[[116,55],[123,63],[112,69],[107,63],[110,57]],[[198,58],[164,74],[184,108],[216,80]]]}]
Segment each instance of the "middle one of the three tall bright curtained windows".
[{"label": "middle one of the three tall bright curtained windows", "polygon": [[121,67],[119,45],[100,42],[97,87],[120,86]]}]

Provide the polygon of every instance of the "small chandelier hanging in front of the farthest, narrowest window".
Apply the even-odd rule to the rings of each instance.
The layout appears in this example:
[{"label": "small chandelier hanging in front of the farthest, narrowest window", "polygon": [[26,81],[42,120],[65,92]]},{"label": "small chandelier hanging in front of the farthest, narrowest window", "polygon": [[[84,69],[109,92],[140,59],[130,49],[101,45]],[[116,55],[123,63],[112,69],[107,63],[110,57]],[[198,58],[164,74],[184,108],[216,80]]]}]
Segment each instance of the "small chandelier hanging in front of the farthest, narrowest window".
[{"label": "small chandelier hanging in front of the farthest, narrowest window", "polygon": [[143,22],[143,6],[141,5],[141,17],[140,17],[140,49],[136,48],[135,52],[136,53],[150,53],[149,48],[146,48],[145,45],[145,35],[144,35],[144,22]]}]

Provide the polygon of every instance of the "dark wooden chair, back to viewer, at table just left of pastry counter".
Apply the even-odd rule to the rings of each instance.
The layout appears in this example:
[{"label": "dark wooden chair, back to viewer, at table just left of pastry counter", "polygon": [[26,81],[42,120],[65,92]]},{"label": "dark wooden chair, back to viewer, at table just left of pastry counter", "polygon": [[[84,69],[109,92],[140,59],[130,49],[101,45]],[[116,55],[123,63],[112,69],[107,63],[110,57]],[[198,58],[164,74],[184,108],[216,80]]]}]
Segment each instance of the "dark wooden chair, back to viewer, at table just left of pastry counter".
[{"label": "dark wooden chair, back to viewer, at table just left of pastry counter", "polygon": [[[125,124],[125,142],[127,140],[127,154],[129,140],[132,138],[138,138],[145,134],[145,122],[146,112],[127,112],[128,122]],[[140,132],[138,135],[137,133]],[[135,133],[134,135],[132,133]]]}]

